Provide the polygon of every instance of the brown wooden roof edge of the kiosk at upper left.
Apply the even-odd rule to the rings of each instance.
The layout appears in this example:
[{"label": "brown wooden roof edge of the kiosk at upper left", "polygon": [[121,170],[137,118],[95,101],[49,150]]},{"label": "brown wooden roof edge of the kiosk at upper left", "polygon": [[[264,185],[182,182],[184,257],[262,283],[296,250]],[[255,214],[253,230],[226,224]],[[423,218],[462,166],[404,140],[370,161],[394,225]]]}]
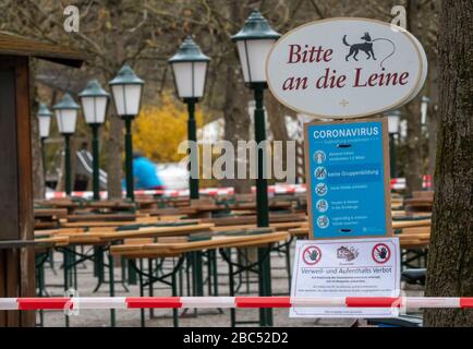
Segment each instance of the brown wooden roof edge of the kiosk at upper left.
[{"label": "brown wooden roof edge of the kiosk at upper left", "polygon": [[60,64],[80,68],[86,56],[76,49],[0,31],[0,55],[35,57]]}]

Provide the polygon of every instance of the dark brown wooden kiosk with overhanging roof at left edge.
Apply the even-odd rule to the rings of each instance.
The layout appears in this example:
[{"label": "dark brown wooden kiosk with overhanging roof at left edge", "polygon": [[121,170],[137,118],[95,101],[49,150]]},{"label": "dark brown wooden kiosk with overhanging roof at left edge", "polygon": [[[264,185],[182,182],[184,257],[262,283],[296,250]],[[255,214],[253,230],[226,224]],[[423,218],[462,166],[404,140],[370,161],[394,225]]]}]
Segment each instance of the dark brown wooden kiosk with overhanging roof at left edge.
[{"label": "dark brown wooden kiosk with overhanging roof at left edge", "polygon": [[[83,62],[71,48],[0,32],[0,298],[35,296],[31,58]],[[0,311],[0,327],[34,325],[34,312]]]}]

